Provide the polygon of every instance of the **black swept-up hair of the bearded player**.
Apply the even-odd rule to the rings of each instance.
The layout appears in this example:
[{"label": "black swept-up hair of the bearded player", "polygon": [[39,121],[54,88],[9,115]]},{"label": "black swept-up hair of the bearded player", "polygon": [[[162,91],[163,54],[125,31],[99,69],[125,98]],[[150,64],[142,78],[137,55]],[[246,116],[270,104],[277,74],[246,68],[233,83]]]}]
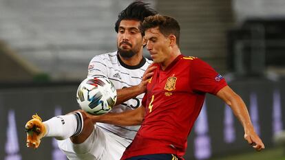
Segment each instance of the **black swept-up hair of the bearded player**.
[{"label": "black swept-up hair of the bearded player", "polygon": [[[145,19],[147,16],[153,16],[157,14],[157,12],[149,8],[149,3],[144,3],[142,1],[134,1],[133,3],[129,4],[125,10],[118,14],[118,20],[115,23],[115,30],[118,33],[118,27],[120,25],[120,21],[122,20],[138,20],[140,23]],[[142,32],[142,36],[144,32]]]}]

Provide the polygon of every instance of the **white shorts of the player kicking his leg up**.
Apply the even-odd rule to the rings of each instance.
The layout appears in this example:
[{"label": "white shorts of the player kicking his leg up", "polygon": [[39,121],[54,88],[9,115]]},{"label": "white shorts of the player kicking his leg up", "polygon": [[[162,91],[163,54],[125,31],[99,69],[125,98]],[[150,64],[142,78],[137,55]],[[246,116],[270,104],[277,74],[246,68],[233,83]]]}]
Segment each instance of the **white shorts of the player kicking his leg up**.
[{"label": "white shorts of the player kicking his leg up", "polygon": [[72,159],[90,159],[88,157],[92,156],[99,160],[118,160],[130,141],[95,126],[91,135],[81,144],[73,144],[70,139],[58,143],[59,148]]}]

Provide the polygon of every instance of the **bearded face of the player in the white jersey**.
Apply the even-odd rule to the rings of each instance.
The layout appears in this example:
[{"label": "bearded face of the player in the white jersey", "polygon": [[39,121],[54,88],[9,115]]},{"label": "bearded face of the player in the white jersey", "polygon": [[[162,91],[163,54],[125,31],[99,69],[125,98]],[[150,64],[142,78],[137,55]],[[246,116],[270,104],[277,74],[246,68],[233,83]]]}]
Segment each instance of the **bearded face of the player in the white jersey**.
[{"label": "bearded face of the player in the white jersey", "polygon": [[117,47],[120,56],[131,58],[142,51],[143,38],[139,26],[140,21],[120,21],[117,35]]}]

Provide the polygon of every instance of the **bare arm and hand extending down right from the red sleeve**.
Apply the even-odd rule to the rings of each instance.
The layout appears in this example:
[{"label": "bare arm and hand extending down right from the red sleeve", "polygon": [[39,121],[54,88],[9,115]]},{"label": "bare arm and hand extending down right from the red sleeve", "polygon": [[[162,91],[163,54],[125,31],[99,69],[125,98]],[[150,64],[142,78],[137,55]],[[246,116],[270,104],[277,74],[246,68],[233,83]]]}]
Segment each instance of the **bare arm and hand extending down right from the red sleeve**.
[{"label": "bare arm and hand extending down right from the red sleeve", "polygon": [[231,106],[235,117],[240,120],[244,127],[244,139],[255,148],[260,151],[264,149],[264,144],[260,137],[255,133],[251,118],[249,117],[249,111],[246,108],[246,104],[239,95],[237,95],[229,86],[222,88],[218,91],[217,96],[224,100],[226,104]]}]

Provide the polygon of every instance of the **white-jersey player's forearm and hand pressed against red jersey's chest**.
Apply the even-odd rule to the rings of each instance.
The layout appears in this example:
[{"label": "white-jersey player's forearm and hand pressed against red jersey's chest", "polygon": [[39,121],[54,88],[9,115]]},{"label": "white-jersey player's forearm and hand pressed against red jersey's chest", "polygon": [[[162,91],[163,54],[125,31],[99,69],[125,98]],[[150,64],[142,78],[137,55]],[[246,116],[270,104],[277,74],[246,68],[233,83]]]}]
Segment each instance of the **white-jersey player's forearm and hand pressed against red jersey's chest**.
[{"label": "white-jersey player's forearm and hand pressed against red jersey's chest", "polygon": [[142,76],[142,81],[140,82],[140,84],[133,87],[117,89],[118,97],[115,105],[121,104],[131,98],[134,98],[136,97],[136,95],[145,93],[145,90],[147,89],[147,82],[149,82],[149,79],[151,78],[151,76],[153,76],[154,69],[156,69],[156,66],[153,66],[152,64],[147,67],[147,70]]}]

